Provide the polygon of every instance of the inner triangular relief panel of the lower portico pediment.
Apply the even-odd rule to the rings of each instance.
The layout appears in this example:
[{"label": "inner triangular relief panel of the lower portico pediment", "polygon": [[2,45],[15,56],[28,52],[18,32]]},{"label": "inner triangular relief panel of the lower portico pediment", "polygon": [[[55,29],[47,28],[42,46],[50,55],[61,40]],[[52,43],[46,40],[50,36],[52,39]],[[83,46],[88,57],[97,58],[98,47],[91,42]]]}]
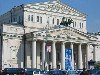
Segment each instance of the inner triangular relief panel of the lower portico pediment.
[{"label": "inner triangular relief panel of the lower portico pediment", "polygon": [[78,31],[74,31],[68,28],[64,29],[56,29],[48,33],[51,36],[56,36],[57,38],[65,38],[65,39],[73,39],[73,40],[89,40],[87,35],[83,33],[79,33]]}]

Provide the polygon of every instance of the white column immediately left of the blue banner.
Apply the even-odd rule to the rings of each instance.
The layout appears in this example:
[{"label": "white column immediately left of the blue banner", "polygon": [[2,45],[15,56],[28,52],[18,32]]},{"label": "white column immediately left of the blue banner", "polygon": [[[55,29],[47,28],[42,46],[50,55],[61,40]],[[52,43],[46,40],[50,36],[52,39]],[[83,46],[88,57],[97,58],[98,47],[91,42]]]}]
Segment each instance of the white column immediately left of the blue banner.
[{"label": "white column immediately left of the blue banner", "polygon": [[65,43],[61,44],[61,69],[65,70]]}]

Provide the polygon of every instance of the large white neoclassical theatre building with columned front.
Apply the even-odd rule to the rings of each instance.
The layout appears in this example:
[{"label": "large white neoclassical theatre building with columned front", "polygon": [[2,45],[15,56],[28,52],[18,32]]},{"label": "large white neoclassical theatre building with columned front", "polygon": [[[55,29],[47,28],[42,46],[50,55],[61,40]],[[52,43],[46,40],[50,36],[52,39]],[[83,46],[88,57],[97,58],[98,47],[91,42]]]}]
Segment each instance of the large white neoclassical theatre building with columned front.
[{"label": "large white neoclassical theatre building with columned front", "polygon": [[[73,23],[60,25],[62,18]],[[87,15],[59,0],[22,4],[0,16],[1,68],[72,69],[100,61],[99,38],[87,33]]]}]

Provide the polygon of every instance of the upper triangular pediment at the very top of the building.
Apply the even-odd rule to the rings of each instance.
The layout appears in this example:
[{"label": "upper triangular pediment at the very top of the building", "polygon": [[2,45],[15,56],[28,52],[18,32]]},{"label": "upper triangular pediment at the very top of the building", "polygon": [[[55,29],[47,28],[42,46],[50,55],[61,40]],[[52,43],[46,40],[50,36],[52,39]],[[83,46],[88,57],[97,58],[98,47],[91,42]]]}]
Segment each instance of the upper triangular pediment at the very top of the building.
[{"label": "upper triangular pediment at the very top of the building", "polygon": [[86,16],[84,13],[79,12],[78,10],[70,7],[67,4],[63,4],[60,1],[48,1],[43,3],[31,3],[27,4],[29,8],[40,9],[44,11],[71,14],[76,16]]}]

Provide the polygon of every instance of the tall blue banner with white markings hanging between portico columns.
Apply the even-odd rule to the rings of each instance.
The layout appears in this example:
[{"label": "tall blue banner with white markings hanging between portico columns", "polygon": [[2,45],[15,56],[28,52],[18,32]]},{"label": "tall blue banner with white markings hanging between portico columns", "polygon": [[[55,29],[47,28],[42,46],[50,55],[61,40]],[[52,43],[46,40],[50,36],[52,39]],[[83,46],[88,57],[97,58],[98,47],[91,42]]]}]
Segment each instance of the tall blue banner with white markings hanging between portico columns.
[{"label": "tall blue banner with white markings hanging between portico columns", "polygon": [[72,49],[65,49],[65,69],[72,70]]}]

